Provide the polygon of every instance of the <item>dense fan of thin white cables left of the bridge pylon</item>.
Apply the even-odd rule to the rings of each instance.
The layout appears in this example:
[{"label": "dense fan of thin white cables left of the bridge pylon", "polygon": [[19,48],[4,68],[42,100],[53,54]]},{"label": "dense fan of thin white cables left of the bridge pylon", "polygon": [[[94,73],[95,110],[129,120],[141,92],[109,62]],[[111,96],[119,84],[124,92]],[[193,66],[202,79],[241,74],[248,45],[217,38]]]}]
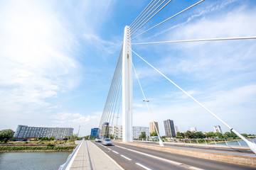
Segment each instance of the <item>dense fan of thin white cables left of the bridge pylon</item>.
[{"label": "dense fan of thin white cables left of the bridge pylon", "polygon": [[[122,48],[123,49],[123,48]],[[112,83],[110,85],[110,91],[107,95],[107,101],[102,113],[102,118],[100,120],[99,128],[102,129],[103,123],[109,123],[113,125],[114,116],[117,111],[117,103],[121,103],[122,98],[122,50],[119,53],[119,58],[117,60],[117,66],[114,70],[114,76],[112,78]],[[119,112],[119,107],[118,107]],[[117,113],[118,115],[118,113]]]}]

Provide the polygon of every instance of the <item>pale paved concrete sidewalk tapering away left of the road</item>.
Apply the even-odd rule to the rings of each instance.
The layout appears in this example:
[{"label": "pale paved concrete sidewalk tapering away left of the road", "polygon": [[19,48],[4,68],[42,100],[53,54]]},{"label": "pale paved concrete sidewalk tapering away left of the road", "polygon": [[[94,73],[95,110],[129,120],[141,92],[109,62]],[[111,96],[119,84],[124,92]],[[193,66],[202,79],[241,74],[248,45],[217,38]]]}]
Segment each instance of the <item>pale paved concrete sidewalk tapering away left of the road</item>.
[{"label": "pale paved concrete sidewalk tapering away left of the road", "polygon": [[92,169],[122,169],[112,158],[97,147],[90,140],[85,140],[78,148],[74,159],[70,161],[66,169],[92,170]]}]

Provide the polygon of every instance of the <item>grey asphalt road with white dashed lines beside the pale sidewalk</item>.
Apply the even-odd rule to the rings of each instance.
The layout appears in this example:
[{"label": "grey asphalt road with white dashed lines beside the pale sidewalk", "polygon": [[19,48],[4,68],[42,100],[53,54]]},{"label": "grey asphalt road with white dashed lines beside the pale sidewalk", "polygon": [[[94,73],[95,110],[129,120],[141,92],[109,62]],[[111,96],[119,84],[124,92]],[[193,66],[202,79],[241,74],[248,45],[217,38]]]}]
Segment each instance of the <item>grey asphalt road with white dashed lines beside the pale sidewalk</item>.
[{"label": "grey asphalt road with white dashed lines beside the pale sidewalk", "polygon": [[215,162],[206,159],[187,157],[168,152],[160,152],[141,147],[114,143],[114,146],[103,146],[94,142],[103,152],[114,159],[124,169],[255,169],[248,166]]}]

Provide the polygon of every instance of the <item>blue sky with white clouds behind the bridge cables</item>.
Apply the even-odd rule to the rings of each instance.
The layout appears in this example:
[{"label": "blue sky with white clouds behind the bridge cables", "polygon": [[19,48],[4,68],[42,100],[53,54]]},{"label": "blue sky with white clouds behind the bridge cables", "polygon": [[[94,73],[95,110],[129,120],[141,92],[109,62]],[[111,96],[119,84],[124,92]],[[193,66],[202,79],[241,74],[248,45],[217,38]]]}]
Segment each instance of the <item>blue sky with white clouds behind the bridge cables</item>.
[{"label": "blue sky with white clouds behind the bridge cables", "polygon": [[[141,30],[197,1],[173,0]],[[100,123],[124,26],[149,1],[0,1],[0,129],[17,125],[72,127],[89,135]],[[256,35],[256,2],[203,3],[132,40],[153,42]],[[256,123],[256,41],[132,45],[132,49],[238,132]],[[220,125],[190,98],[133,55],[160,134]],[[134,125],[149,113],[134,77]],[[119,125],[122,124],[121,119]]]}]

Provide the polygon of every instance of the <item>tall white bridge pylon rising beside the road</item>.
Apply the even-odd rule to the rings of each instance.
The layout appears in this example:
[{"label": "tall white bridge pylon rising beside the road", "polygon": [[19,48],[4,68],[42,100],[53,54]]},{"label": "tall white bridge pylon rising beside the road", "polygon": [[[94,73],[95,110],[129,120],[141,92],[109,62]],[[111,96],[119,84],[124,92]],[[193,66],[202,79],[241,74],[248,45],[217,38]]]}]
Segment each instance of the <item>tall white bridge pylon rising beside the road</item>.
[{"label": "tall white bridge pylon rising beside the road", "polygon": [[132,142],[132,44],[129,26],[122,47],[122,141]]}]

